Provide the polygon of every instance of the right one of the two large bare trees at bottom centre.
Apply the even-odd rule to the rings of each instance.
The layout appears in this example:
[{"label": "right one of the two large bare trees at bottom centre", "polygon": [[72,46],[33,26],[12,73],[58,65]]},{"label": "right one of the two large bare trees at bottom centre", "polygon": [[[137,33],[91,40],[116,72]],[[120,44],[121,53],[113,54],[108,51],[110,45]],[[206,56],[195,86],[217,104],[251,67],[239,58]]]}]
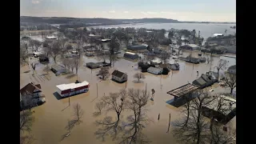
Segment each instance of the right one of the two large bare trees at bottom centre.
[{"label": "right one of the two large bare trees at bottom centre", "polygon": [[124,125],[124,134],[120,143],[149,143],[142,130],[150,123],[146,115],[146,104],[150,98],[150,93],[146,90],[128,90],[127,109],[133,114],[127,117]]}]

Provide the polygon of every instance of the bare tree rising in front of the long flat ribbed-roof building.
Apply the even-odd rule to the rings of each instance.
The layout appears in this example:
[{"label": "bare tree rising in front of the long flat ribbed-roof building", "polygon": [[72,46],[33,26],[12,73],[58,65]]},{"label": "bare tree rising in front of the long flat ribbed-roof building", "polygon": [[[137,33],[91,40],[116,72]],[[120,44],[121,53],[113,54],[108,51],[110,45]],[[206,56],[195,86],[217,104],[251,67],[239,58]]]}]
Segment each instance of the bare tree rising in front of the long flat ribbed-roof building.
[{"label": "bare tree rising in front of the long flat ribbed-roof building", "polygon": [[[185,143],[206,143],[209,138],[207,132],[209,124],[202,116],[203,106],[210,105],[211,98],[208,93],[203,93],[202,90],[194,92],[196,98],[190,103],[190,115],[188,122],[184,122],[184,118],[173,122],[174,136],[178,141]],[[186,123],[186,125],[184,125]]]}]

